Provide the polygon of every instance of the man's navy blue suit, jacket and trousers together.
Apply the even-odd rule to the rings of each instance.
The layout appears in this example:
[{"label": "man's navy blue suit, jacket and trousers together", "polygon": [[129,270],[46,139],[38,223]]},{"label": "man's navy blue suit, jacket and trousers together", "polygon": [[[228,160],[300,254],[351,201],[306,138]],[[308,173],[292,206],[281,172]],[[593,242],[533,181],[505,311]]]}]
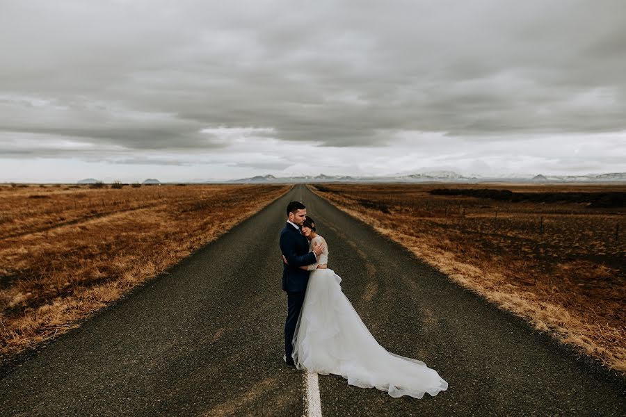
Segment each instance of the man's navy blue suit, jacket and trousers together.
[{"label": "man's navy blue suit, jacket and trousers together", "polygon": [[284,322],[284,353],[287,360],[291,359],[294,351],[291,341],[296,332],[296,323],[304,302],[305,291],[309,283],[307,270],[300,266],[311,265],[316,262],[315,254],[309,251],[309,240],[300,234],[292,224],[285,224],[280,232],[280,252],[287,258],[282,264],[282,291],[287,292],[287,320]]}]

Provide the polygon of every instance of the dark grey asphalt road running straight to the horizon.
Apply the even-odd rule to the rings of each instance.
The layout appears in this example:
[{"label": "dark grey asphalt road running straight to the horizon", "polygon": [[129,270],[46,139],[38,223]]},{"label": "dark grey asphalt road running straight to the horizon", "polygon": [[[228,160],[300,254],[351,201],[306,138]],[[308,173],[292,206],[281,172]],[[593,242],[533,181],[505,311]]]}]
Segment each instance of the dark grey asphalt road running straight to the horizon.
[{"label": "dark grey asphalt road running straight to the horizon", "polygon": [[[254,198],[254,196],[250,196]],[[296,186],[78,329],[0,368],[1,416],[299,416],[282,361],[278,234],[301,199],[378,342],[449,389],[391,398],[320,376],[325,416],[623,416],[626,382]]]}]

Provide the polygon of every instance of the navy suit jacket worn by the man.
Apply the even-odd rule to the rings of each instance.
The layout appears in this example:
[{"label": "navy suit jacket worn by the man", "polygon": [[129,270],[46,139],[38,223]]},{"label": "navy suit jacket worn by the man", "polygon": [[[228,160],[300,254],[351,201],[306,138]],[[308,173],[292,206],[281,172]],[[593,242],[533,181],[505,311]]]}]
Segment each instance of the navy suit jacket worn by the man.
[{"label": "navy suit jacket worn by the man", "polygon": [[310,271],[300,269],[315,263],[315,254],[309,251],[309,240],[300,231],[287,223],[280,232],[280,252],[287,258],[282,263],[282,291],[303,293],[307,290]]}]

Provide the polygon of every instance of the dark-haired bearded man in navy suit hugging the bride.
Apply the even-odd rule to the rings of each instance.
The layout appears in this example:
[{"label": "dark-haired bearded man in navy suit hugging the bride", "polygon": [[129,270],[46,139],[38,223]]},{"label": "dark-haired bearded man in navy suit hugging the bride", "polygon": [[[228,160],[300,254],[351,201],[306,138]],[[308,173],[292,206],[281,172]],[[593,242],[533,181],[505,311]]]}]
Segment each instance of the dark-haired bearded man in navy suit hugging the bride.
[{"label": "dark-haired bearded man in navy suit hugging the bride", "polygon": [[324,245],[314,245],[309,252],[309,240],[300,234],[307,217],[307,208],[301,202],[290,202],[287,205],[287,224],[280,232],[280,252],[287,259],[282,264],[282,291],[287,292],[287,320],[284,322],[284,360],[289,366],[295,366],[291,352],[294,346],[291,340],[294,338],[296,323],[300,316],[300,309],[304,302],[310,271],[299,268],[316,262],[323,250]]}]

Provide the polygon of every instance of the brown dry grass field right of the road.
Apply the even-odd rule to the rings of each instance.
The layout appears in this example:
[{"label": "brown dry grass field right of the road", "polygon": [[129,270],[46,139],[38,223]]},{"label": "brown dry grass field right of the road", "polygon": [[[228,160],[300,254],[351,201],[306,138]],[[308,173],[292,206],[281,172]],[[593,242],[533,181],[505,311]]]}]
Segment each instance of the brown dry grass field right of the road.
[{"label": "brown dry grass field right of the road", "polygon": [[626,186],[311,188],[454,281],[626,373]]}]

